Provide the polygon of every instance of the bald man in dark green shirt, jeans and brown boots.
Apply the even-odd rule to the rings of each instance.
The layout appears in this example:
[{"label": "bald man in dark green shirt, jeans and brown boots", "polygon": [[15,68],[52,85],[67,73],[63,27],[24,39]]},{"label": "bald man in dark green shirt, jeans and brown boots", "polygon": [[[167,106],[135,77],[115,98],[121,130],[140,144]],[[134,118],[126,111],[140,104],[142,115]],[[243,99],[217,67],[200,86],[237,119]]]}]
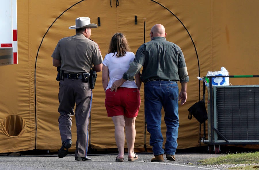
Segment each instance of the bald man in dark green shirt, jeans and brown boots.
[{"label": "bald man in dark green shirt, jeans and brown boots", "polygon": [[[135,74],[143,67],[141,81],[144,82],[146,128],[150,133],[150,145],[155,156],[151,162],[164,162],[164,153],[167,160],[175,161],[179,127],[178,101],[181,101],[181,105],[186,102],[189,76],[182,50],[165,39],[164,26],[154,25],[149,35],[151,41],[138,48],[128,71],[113,83],[111,89],[117,91],[126,80],[133,81]],[[180,93],[178,81],[182,87]],[[161,132],[162,107],[167,128],[165,150]]]}]

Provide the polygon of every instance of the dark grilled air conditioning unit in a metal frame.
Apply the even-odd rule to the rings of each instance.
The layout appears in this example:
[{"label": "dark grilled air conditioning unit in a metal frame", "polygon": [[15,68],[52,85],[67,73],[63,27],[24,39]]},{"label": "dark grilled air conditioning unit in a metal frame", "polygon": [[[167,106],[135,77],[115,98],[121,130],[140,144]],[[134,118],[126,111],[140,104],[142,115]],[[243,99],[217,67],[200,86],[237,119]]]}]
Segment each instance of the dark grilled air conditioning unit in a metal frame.
[{"label": "dark grilled air conditioning unit in a metal frame", "polygon": [[259,144],[259,85],[212,86],[208,94],[211,143]]}]

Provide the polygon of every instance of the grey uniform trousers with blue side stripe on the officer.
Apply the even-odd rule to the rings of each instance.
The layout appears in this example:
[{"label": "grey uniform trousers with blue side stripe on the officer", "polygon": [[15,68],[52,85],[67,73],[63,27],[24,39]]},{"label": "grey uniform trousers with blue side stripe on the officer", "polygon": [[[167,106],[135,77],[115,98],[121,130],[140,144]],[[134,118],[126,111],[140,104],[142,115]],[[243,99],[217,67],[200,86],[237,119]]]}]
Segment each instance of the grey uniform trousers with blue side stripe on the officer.
[{"label": "grey uniform trousers with blue side stripe on the officer", "polygon": [[[59,131],[62,142],[72,139],[72,118],[75,115],[77,126],[77,143],[75,157],[86,157],[88,147],[88,123],[92,105],[92,89],[89,82],[78,79],[64,79],[59,85],[58,118]],[[76,109],[74,113],[74,107]]]}]

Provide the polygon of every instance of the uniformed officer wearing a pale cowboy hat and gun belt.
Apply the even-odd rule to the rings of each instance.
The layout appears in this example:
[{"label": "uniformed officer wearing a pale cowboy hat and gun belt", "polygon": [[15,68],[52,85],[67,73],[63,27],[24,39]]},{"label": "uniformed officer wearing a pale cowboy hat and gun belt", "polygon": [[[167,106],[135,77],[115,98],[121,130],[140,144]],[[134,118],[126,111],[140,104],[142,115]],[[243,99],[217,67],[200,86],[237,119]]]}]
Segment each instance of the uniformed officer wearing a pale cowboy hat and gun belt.
[{"label": "uniformed officer wearing a pale cowboy hat and gun belt", "polygon": [[[71,116],[75,115],[77,126],[77,142],[75,160],[90,161],[87,157],[88,123],[92,105],[92,89],[89,84],[89,73],[92,65],[96,72],[102,71],[102,54],[98,45],[90,40],[91,29],[97,28],[91,24],[89,17],[78,17],[74,36],[59,40],[53,54],[53,66],[62,71],[59,85],[58,118],[62,146],[58,157],[65,157],[71,147]],[[63,77],[63,78],[62,78]],[[74,106],[76,109],[74,113]]]}]

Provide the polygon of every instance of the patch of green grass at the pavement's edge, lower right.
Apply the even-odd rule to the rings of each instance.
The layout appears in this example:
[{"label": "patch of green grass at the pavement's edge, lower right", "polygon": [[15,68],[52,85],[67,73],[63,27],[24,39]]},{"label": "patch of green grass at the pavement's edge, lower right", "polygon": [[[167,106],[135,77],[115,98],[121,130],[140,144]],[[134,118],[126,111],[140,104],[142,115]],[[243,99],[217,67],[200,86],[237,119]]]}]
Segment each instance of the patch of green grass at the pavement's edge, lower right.
[{"label": "patch of green grass at the pavement's edge, lower right", "polygon": [[204,159],[199,161],[202,165],[217,165],[217,164],[258,164],[245,167],[234,167],[229,169],[234,170],[259,170],[259,152],[253,153],[236,153],[222,155],[216,158]]}]

